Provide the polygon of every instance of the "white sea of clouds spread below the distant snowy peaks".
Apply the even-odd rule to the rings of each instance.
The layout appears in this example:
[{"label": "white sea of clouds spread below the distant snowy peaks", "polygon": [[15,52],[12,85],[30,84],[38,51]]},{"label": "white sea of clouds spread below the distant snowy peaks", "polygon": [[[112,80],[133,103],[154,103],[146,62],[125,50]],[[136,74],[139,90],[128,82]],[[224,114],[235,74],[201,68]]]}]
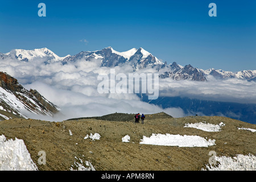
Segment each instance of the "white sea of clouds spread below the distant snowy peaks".
[{"label": "white sea of clouds spread below the distant snowy peaks", "polygon": [[[0,71],[18,79],[26,89],[36,89],[47,100],[61,109],[61,114],[48,120],[61,121],[68,118],[100,116],[115,112],[158,113],[161,111],[173,117],[184,117],[178,108],[162,109],[160,106],[142,102],[137,94],[99,93],[98,75],[108,75],[110,68],[100,67],[101,59],[86,61],[80,59],[62,64],[36,58],[30,62],[15,59],[0,60]],[[113,68],[112,68],[113,69]],[[133,73],[133,67],[124,64],[114,67],[115,73]],[[138,73],[154,73],[148,68]],[[161,73],[161,72],[160,72]],[[160,74],[159,73],[159,74]],[[232,101],[256,104],[256,83],[245,80],[216,80],[208,76],[207,82],[159,78],[159,96],[181,96],[213,101]],[[28,116],[29,117],[29,116]],[[35,118],[36,116],[31,116]]]}]

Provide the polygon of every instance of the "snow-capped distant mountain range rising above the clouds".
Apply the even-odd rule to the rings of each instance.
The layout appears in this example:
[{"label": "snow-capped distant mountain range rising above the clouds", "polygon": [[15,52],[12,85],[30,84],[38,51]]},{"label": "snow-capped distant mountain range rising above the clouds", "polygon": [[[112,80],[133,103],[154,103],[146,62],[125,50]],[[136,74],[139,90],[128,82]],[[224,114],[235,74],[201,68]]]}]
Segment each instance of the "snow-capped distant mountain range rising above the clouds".
[{"label": "snow-capped distant mountain range rising above the clouds", "polygon": [[112,47],[106,47],[98,51],[81,51],[76,55],[67,55],[64,57],[57,56],[47,48],[33,50],[14,49],[8,53],[0,53],[0,59],[16,59],[28,62],[36,58],[46,59],[44,62],[46,64],[61,61],[63,65],[81,59],[86,61],[101,59],[101,67],[115,67],[117,65],[130,64],[134,71],[143,68],[155,68],[156,71],[159,71],[160,78],[172,78],[174,80],[207,81],[206,76],[212,75],[218,79],[239,78],[247,81],[256,81],[256,70],[230,72],[214,68],[204,70],[194,68],[190,64],[183,67],[176,62],[167,64],[143,48],[132,48],[129,51],[118,52]]}]

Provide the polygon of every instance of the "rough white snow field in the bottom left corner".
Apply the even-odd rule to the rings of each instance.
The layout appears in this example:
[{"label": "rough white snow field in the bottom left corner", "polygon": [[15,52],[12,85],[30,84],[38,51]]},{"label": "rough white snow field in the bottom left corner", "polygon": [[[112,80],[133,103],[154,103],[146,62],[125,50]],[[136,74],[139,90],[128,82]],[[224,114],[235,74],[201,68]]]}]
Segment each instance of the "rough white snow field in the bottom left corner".
[{"label": "rough white snow field in the bottom left corner", "polygon": [[32,161],[23,140],[6,140],[0,136],[0,170],[1,171],[36,171],[38,167]]}]

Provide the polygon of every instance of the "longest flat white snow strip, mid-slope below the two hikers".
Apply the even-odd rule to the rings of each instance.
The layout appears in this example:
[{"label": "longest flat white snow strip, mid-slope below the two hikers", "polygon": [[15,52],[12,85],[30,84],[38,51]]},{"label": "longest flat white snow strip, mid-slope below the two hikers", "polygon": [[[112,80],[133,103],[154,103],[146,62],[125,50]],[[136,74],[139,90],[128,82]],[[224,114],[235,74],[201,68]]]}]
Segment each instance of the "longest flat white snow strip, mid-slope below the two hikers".
[{"label": "longest flat white snow strip, mid-slope below the two hikers", "polygon": [[171,135],[171,134],[152,134],[151,137],[143,136],[140,144],[154,144],[159,146],[178,146],[178,147],[208,147],[215,145],[215,140],[208,141],[199,136],[193,135]]}]

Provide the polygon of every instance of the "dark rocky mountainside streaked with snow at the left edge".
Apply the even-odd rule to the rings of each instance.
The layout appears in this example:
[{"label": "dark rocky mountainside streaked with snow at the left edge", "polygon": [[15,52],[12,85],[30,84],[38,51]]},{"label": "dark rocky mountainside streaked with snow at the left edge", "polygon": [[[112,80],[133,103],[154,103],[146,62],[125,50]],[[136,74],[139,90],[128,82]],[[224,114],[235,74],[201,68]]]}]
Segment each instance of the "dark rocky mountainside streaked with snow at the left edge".
[{"label": "dark rocky mountainside streaked with snow at the left edge", "polygon": [[[0,72],[0,108],[3,113],[9,112],[24,118],[27,118],[26,113],[52,116],[58,112],[57,107],[39,92],[24,89],[15,78],[3,72]],[[1,119],[8,118],[4,116]]]}]

